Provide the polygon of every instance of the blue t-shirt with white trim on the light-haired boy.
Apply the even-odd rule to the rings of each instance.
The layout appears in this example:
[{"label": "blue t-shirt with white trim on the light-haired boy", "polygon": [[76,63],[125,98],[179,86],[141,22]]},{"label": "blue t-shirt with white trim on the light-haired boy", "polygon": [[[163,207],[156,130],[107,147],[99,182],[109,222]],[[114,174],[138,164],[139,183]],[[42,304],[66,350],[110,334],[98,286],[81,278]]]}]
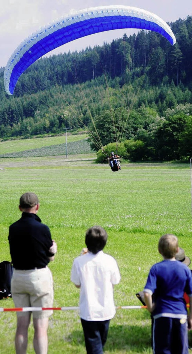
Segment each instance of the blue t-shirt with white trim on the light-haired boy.
[{"label": "blue t-shirt with white trim on the light-haired boy", "polygon": [[191,270],[179,261],[165,259],[156,263],[150,269],[144,291],[154,293],[154,318],[187,316],[183,296],[184,292],[192,296]]}]

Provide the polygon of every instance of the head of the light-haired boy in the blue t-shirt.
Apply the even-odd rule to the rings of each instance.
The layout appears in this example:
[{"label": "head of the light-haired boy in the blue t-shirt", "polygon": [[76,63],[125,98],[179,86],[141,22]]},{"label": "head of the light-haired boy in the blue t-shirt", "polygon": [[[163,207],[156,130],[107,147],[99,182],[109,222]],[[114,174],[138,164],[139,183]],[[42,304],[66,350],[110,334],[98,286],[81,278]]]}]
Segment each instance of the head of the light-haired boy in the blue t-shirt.
[{"label": "head of the light-haired boy in the blue t-shirt", "polygon": [[175,257],[178,247],[178,238],[175,235],[165,234],[159,239],[158,250],[164,258]]}]

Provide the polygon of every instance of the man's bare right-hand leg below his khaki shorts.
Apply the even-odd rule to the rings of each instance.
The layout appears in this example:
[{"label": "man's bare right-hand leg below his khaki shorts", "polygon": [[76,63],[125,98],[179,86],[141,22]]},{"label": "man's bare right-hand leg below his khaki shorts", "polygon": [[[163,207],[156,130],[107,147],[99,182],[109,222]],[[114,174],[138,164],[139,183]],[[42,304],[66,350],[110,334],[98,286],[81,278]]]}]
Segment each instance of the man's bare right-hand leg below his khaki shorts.
[{"label": "man's bare right-hand leg below his khaki shorts", "polygon": [[47,354],[48,350],[48,329],[49,318],[34,318],[33,325],[35,329],[33,346],[36,354]]}]

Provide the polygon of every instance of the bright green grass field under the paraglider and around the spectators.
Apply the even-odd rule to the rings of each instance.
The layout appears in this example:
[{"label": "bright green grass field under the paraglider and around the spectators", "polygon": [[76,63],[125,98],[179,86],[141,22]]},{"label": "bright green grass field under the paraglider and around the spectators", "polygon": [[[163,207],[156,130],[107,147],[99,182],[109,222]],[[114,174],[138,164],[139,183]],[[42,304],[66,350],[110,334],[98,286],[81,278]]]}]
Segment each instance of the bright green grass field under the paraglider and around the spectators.
[{"label": "bright green grass field under the paraglider and around the spectators", "polygon": [[[0,261],[10,260],[8,227],[21,215],[19,197],[35,192],[40,198],[38,215],[58,244],[56,259],[50,264],[54,306],[78,306],[79,291],[70,282],[71,265],[85,246],[86,229],[97,224],[109,236],[105,252],[120,267],[122,279],[114,289],[116,305],[140,305],[135,293],[143,289],[151,265],[161,260],[157,243],[162,234],[176,234],[192,258],[190,166],[123,164],[114,173],[108,165],[95,164],[94,157],[0,159]],[[2,300],[0,307],[13,307],[12,299]],[[14,353],[16,315],[0,315],[0,352]],[[49,354],[85,354],[78,312],[54,312],[48,336]],[[32,338],[31,325],[28,354],[34,353]],[[105,353],[152,353],[147,310],[117,310]]]}]

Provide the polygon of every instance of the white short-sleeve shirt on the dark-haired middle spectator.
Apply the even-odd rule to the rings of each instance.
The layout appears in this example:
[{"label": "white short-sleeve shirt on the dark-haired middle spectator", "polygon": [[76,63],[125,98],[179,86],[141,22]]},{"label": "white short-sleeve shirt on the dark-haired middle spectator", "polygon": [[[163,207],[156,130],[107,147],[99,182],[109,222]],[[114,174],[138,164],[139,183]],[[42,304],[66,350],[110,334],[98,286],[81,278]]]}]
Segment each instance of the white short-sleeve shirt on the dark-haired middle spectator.
[{"label": "white short-sleeve shirt on the dark-haired middle spectator", "polygon": [[71,281],[80,285],[80,317],[86,321],[105,321],[114,317],[113,285],[121,276],[116,260],[103,251],[75,258]]}]

